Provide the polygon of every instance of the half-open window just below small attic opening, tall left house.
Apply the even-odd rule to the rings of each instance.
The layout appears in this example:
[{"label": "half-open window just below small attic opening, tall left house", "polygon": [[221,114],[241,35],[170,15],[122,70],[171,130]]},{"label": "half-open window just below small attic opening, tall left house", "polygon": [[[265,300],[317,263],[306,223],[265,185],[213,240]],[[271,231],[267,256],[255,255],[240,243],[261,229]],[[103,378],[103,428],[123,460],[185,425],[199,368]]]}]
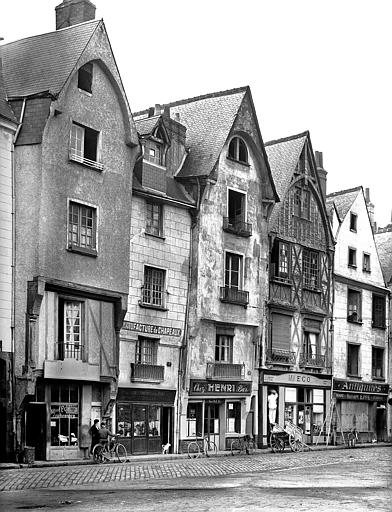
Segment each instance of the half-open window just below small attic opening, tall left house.
[{"label": "half-open window just below small attic opening, tall left house", "polygon": [[93,169],[103,170],[103,164],[100,162],[100,146],[100,132],[78,123],[72,123],[69,151],[71,160]]}]

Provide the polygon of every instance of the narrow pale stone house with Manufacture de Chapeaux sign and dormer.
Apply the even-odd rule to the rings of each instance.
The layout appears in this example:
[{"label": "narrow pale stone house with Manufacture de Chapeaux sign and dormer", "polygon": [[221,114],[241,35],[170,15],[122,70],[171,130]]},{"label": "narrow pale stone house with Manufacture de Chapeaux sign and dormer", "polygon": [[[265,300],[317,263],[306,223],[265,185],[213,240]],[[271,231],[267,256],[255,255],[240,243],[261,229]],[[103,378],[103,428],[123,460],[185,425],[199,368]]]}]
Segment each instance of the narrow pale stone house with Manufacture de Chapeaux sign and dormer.
[{"label": "narrow pale stone house with Manufacture de Chapeaux sign and dormer", "polygon": [[174,176],[186,128],[159,105],[135,114],[143,155],[134,173],[128,312],[121,331],[117,432],[130,453],[177,446],[179,366],[195,201]]}]

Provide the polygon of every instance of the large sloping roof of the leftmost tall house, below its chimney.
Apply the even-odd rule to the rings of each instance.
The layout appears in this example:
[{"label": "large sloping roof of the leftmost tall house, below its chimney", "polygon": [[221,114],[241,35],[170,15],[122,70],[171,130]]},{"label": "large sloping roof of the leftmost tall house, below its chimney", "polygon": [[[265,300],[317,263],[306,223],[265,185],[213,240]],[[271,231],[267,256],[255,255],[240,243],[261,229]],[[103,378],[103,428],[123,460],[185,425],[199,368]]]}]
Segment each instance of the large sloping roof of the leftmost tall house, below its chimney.
[{"label": "large sloping roof of the leftmost tall house, below its chimney", "polygon": [[8,98],[49,92],[56,96],[102,21],[20,39],[1,47]]}]

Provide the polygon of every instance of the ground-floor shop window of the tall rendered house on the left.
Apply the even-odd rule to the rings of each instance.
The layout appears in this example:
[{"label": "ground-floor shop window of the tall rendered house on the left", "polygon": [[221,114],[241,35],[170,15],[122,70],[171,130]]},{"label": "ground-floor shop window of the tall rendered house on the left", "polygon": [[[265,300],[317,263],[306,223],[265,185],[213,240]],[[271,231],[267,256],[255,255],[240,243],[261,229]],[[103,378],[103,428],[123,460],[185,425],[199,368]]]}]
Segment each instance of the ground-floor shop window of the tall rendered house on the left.
[{"label": "ground-floor shop window of the tall rendered house on the left", "polygon": [[52,446],[77,446],[79,436],[79,388],[76,384],[52,384],[50,397]]}]

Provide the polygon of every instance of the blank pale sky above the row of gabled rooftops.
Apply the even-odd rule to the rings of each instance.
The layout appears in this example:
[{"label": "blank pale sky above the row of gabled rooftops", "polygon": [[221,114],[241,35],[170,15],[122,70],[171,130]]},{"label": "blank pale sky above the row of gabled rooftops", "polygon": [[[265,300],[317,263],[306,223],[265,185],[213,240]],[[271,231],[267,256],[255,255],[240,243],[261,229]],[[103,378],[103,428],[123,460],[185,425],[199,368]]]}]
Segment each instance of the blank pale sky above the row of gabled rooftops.
[{"label": "blank pale sky above the row of gabled rooftops", "polygon": [[[2,2],[4,43],[55,29],[61,0]],[[133,112],[249,85],[264,142],[309,130],[327,192],[392,212],[390,0],[95,0]]]}]

